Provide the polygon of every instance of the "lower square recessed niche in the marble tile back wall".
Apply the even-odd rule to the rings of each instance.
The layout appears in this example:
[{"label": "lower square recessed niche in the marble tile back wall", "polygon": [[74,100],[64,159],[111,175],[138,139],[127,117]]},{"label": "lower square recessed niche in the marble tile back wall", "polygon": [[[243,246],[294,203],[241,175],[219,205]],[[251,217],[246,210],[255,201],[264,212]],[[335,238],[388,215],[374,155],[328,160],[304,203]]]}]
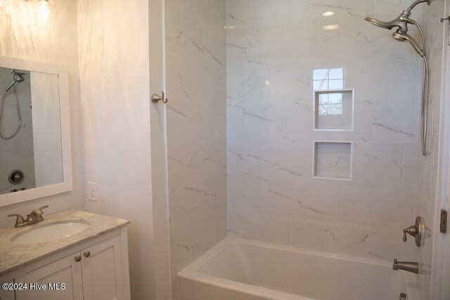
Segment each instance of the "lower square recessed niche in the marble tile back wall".
[{"label": "lower square recessed niche in the marble tile back wall", "polygon": [[315,141],[314,177],[352,179],[352,143]]}]

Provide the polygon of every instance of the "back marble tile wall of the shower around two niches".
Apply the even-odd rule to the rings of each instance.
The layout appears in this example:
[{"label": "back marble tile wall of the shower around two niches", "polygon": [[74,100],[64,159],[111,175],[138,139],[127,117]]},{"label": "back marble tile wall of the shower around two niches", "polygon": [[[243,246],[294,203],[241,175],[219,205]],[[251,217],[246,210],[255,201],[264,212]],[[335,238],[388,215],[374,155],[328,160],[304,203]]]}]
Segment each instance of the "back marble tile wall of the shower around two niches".
[{"label": "back marble tile wall of the shower around two niches", "polygon": [[[364,21],[392,20],[410,4],[226,1],[229,235],[413,258],[401,229],[415,220],[418,168],[436,167],[432,155],[417,165],[421,61]],[[412,17],[422,20],[422,9]],[[314,77],[339,69],[343,82],[332,71]],[[354,89],[353,130],[314,131],[314,86],[339,84]],[[352,143],[351,180],[313,178],[314,141]]]}]

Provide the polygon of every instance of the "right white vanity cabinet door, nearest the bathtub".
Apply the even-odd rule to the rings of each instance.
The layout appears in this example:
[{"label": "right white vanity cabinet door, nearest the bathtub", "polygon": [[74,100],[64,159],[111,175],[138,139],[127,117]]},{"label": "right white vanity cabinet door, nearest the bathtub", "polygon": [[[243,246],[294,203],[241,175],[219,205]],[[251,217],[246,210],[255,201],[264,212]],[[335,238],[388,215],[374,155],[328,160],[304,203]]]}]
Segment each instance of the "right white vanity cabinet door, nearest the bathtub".
[{"label": "right white vanity cabinet door, nearest the bathtub", "polygon": [[124,299],[120,236],[82,250],[84,300]]}]

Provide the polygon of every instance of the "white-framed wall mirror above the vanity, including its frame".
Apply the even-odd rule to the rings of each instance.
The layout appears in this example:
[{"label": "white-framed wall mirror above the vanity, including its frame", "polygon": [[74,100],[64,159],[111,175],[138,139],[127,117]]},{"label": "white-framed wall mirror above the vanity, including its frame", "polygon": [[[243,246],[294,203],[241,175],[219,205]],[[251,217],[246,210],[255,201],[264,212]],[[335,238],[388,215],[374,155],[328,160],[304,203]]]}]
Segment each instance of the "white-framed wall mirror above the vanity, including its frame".
[{"label": "white-framed wall mirror above the vanity, including its frame", "polygon": [[0,207],[72,190],[68,73],[0,57]]}]

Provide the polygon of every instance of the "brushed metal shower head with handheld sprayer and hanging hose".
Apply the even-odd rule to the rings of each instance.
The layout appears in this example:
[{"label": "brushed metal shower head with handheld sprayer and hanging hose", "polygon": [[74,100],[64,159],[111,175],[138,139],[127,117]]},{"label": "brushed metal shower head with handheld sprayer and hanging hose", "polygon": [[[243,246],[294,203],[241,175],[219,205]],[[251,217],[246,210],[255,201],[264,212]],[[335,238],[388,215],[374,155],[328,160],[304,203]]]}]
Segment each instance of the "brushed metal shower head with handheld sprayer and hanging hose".
[{"label": "brushed metal shower head with handheld sprayer and hanging hose", "polygon": [[[421,105],[421,112],[420,112],[420,136],[422,141],[422,154],[425,156],[427,155],[427,131],[428,131],[428,87],[429,87],[429,77],[430,77],[430,70],[428,67],[428,58],[427,58],[427,47],[425,44],[425,35],[423,34],[422,27],[418,25],[418,23],[415,20],[412,20],[409,18],[411,16],[411,11],[413,8],[415,8],[418,4],[421,3],[427,3],[428,5],[431,4],[432,0],[417,0],[409,8],[406,9],[406,11],[401,11],[399,17],[396,19],[390,21],[390,22],[383,22],[380,20],[377,20],[372,17],[366,17],[366,21],[384,28],[386,30],[392,30],[393,28],[397,27],[397,30],[395,30],[394,33],[392,33],[392,37],[397,41],[405,41],[411,44],[413,46],[414,50],[418,53],[418,55],[423,58],[423,82],[422,82],[422,105]],[[419,32],[420,32],[420,38],[422,40],[422,46],[411,37],[411,35],[408,34],[408,24],[415,25]]]}]

